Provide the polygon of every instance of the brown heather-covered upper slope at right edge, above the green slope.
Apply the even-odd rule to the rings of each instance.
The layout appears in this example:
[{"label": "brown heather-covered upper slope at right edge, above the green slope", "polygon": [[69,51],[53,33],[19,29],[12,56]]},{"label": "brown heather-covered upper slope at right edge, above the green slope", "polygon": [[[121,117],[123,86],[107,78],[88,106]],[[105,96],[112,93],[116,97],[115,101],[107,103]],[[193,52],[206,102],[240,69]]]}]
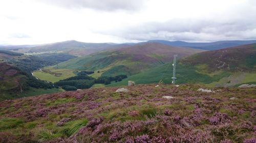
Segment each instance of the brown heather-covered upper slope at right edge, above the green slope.
[{"label": "brown heather-covered upper slope at right edge, above the green slope", "polygon": [[181,60],[189,65],[204,65],[208,71],[256,70],[256,44],[242,45],[214,51],[205,51]]}]

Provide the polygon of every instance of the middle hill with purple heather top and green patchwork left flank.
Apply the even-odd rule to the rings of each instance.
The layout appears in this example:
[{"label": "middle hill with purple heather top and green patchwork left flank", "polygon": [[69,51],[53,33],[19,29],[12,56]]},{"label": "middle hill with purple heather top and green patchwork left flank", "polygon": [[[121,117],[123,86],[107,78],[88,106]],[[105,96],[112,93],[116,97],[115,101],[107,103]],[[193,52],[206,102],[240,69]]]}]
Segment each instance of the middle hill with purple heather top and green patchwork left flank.
[{"label": "middle hill with purple heather top and green patchwork left flank", "polygon": [[[174,54],[184,57],[202,51],[148,42],[71,59],[58,64],[58,68],[99,71],[104,76],[131,75],[170,62],[173,60]],[[57,67],[55,66],[55,68]]]}]

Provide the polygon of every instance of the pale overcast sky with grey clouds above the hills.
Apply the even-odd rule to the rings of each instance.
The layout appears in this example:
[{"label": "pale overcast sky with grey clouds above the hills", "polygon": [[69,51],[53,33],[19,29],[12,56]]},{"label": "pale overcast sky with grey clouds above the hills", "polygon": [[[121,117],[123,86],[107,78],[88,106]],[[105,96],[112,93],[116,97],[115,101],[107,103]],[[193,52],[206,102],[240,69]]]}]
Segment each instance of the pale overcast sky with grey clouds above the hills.
[{"label": "pale overcast sky with grey clouds above the hills", "polygon": [[0,45],[253,39],[255,0],[0,1]]}]

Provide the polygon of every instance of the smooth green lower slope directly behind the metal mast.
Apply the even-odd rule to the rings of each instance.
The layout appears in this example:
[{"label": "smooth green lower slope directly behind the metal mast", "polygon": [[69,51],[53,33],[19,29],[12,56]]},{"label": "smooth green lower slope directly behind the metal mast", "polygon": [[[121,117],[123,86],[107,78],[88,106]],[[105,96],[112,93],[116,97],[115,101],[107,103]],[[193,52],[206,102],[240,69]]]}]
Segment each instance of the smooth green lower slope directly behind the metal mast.
[{"label": "smooth green lower slope directly behind the metal mast", "polygon": [[[230,74],[227,72],[221,72],[216,75],[208,75],[203,73],[198,73],[196,68],[193,66],[182,65],[180,63],[176,66],[176,77],[177,83],[211,83],[214,81],[219,81],[223,77],[227,77]],[[173,66],[172,63],[167,63],[155,68],[146,70],[139,74],[134,74],[120,82],[114,82],[106,87],[115,87],[127,85],[128,80],[135,81],[136,84],[141,83],[158,83],[161,79],[164,83],[171,83],[173,77]]]}]

